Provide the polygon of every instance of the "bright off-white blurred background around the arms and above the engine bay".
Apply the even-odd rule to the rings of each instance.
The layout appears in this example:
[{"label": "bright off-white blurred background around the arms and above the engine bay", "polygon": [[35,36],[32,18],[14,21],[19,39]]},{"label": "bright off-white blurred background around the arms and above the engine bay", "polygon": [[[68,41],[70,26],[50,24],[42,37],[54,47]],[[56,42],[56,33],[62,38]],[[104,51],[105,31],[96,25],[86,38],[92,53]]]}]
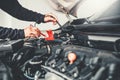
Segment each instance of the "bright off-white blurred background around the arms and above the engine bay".
[{"label": "bright off-white blurred background around the arms and above the engine bay", "polygon": [[[51,8],[48,0],[18,0],[23,7],[30,10],[46,14],[53,13],[58,17],[61,24],[68,21],[65,14],[55,11]],[[83,0],[78,7],[77,16],[78,18],[89,17],[94,14],[94,18],[97,18],[105,11],[109,6],[111,6],[117,0]],[[74,18],[74,17],[73,17]],[[34,22],[21,21],[16,18],[11,17],[4,11],[0,10],[0,26],[12,27],[12,28],[25,28]],[[39,24],[37,25],[41,30],[55,29],[59,26],[53,26],[52,23]]]}]

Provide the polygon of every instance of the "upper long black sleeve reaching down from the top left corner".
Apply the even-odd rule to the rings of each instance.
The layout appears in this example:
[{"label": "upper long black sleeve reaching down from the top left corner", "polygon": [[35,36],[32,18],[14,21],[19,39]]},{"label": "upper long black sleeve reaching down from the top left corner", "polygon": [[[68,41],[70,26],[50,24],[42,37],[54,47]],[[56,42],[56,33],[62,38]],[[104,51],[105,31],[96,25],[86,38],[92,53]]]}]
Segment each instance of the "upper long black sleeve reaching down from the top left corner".
[{"label": "upper long black sleeve reaching down from the top left corner", "polygon": [[17,0],[1,0],[1,5],[2,10],[20,20],[44,22],[44,15],[22,7]]}]

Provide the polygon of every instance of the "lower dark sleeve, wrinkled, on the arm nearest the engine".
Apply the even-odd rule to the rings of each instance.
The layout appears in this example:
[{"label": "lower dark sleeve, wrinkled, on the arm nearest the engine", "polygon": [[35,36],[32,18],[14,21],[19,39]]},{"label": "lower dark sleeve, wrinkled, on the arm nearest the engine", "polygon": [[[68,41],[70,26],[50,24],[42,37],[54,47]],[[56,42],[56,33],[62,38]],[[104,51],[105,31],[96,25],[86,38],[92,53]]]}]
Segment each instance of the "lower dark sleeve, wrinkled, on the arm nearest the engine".
[{"label": "lower dark sleeve, wrinkled, on the arm nearest the engine", "polygon": [[4,28],[0,27],[0,39],[23,39],[24,30],[23,29],[12,29],[12,28]]}]

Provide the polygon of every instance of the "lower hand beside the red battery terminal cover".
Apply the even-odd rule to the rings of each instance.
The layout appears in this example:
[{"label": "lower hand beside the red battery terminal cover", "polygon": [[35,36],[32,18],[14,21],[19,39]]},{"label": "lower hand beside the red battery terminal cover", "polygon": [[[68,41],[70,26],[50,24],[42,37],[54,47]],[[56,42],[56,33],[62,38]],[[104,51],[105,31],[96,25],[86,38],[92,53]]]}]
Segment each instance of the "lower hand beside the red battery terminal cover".
[{"label": "lower hand beside the red battery terminal cover", "polygon": [[40,37],[41,31],[37,27],[30,25],[24,29],[25,38],[38,38]]}]

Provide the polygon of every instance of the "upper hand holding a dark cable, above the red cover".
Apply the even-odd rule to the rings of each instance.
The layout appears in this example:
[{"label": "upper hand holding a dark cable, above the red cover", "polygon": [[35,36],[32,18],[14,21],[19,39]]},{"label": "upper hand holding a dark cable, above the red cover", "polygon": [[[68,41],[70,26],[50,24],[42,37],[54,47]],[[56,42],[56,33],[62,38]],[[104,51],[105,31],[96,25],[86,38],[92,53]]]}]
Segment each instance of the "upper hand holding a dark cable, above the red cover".
[{"label": "upper hand holding a dark cable, above the red cover", "polygon": [[56,18],[56,16],[53,15],[52,13],[45,14],[44,22],[53,22],[53,25],[56,25],[56,23],[57,23],[57,18]]}]

